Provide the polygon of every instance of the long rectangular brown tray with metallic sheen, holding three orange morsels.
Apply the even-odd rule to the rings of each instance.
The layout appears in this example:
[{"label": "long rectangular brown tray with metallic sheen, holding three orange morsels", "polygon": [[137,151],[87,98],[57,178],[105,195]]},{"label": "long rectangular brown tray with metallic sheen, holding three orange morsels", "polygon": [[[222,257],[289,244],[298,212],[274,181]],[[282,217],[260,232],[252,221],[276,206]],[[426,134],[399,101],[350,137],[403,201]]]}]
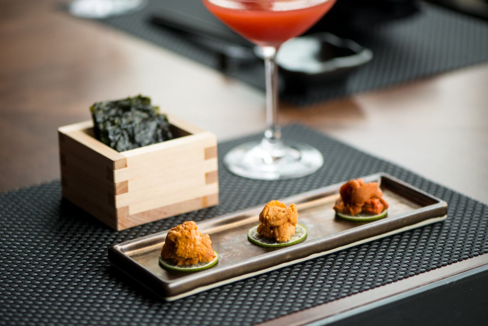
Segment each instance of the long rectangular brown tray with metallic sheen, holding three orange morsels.
[{"label": "long rectangular brown tray with metallic sheen, holding three orange morsels", "polygon": [[247,240],[247,230],[259,224],[263,203],[198,223],[202,233],[210,235],[212,247],[219,253],[219,262],[209,269],[193,273],[163,269],[158,256],[168,230],[113,245],[108,249],[108,258],[112,265],[172,301],[447,217],[446,202],[408,183],[385,173],[364,179],[380,183],[389,204],[386,218],[358,223],[335,217],[332,207],[343,184],[337,183],[282,200],[285,204],[298,205],[298,222],[308,230],[305,241],[296,245],[266,248]]}]

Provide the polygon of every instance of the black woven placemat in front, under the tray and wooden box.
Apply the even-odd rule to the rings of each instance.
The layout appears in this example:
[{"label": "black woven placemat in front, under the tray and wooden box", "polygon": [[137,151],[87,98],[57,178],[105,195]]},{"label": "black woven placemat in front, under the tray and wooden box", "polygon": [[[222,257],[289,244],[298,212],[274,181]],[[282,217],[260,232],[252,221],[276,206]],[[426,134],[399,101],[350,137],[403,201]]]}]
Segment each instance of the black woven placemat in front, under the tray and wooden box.
[{"label": "black woven placemat in front, under the tray and wooden box", "polygon": [[[222,156],[261,135],[219,144],[221,204],[116,232],[61,202],[59,182],[0,195],[0,325],[251,325],[488,252],[488,206],[300,125],[288,138],[319,148],[324,167],[261,182]],[[110,267],[110,245],[331,183],[385,171],[449,204],[428,225],[165,303]]]}]

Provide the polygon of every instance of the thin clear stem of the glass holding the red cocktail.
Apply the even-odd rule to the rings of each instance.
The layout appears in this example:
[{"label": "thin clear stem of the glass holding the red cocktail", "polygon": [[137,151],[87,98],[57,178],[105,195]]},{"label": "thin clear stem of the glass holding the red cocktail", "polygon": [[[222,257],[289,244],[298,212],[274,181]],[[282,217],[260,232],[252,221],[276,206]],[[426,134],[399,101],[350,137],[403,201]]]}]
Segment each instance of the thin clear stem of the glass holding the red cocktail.
[{"label": "thin clear stem of the glass holding the red cocktail", "polygon": [[285,155],[281,140],[281,128],[278,124],[278,67],[275,58],[278,49],[274,46],[262,46],[266,81],[266,131],[261,142],[267,156],[265,163],[273,163]]}]

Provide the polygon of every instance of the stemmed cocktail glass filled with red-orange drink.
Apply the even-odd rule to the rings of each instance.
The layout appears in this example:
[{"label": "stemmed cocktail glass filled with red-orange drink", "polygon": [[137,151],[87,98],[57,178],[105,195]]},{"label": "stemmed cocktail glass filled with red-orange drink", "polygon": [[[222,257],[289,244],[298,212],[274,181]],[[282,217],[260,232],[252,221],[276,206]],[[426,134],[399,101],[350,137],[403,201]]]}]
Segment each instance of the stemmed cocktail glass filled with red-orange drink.
[{"label": "stemmed cocktail glass filled with red-orange drink", "polygon": [[316,148],[282,140],[277,120],[275,57],[283,42],[303,34],[334,3],[335,0],[203,0],[217,18],[257,44],[264,57],[267,128],[261,141],[244,143],[225,155],[224,164],[233,173],[251,179],[281,180],[303,177],[324,164]]}]

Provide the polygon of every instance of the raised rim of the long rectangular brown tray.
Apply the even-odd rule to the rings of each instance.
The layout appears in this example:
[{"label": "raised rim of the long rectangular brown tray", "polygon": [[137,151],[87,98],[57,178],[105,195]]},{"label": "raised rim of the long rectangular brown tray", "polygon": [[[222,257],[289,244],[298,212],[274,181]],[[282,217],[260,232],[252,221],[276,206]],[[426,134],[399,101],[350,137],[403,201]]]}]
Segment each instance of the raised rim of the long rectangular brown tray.
[{"label": "raised rim of the long rectangular brown tray", "polygon": [[[153,234],[149,234],[149,235],[146,235],[146,236],[142,236],[142,237],[139,237],[139,238],[136,238],[136,239],[124,241],[124,242],[119,243],[119,244],[116,244],[116,245],[112,245],[112,246],[110,246],[108,248],[108,258],[109,258],[109,261],[110,261],[110,264],[111,265],[117,267],[117,269],[120,269],[126,275],[128,275],[131,278],[133,278],[134,280],[138,281],[140,284],[144,285],[145,287],[147,287],[148,289],[150,289],[151,291],[153,291],[154,293],[156,293],[158,296],[162,297],[164,300],[166,300],[166,301],[174,301],[174,300],[177,300],[177,299],[186,297],[188,295],[192,295],[192,294],[195,294],[195,293],[204,291],[204,290],[209,289],[209,288],[213,288],[213,287],[217,287],[217,286],[220,286],[220,285],[224,285],[224,284],[228,284],[228,283],[231,283],[231,282],[235,282],[235,281],[238,281],[240,279],[244,279],[244,278],[251,277],[251,276],[254,276],[254,275],[259,275],[259,274],[262,274],[262,273],[265,273],[265,272],[268,272],[268,271],[271,271],[271,270],[275,270],[275,269],[278,269],[278,268],[282,268],[282,267],[285,267],[285,266],[288,266],[288,265],[297,264],[297,263],[300,263],[300,262],[303,262],[303,261],[306,261],[306,260],[309,260],[309,259],[313,259],[315,257],[320,257],[320,256],[323,256],[323,255],[326,255],[326,254],[329,254],[329,253],[332,253],[332,252],[335,252],[335,251],[338,251],[338,250],[343,250],[343,249],[349,248],[351,246],[361,245],[361,244],[366,243],[366,242],[369,242],[369,241],[374,241],[376,239],[381,239],[383,237],[387,237],[389,235],[393,235],[393,234],[396,234],[396,233],[404,232],[404,231],[407,231],[409,229],[413,229],[413,228],[416,228],[416,227],[420,227],[420,226],[424,226],[424,225],[428,225],[428,224],[440,222],[440,221],[443,221],[443,220],[445,220],[447,218],[447,202],[445,202],[445,201],[443,201],[443,200],[441,200],[441,199],[439,199],[439,198],[437,198],[437,197],[435,197],[433,195],[430,195],[429,193],[427,193],[427,192],[425,192],[425,191],[423,191],[421,189],[418,189],[417,187],[415,187],[415,186],[413,186],[413,185],[411,185],[409,183],[406,183],[406,182],[404,182],[404,181],[402,181],[400,179],[397,179],[397,178],[395,178],[395,177],[393,177],[393,176],[391,176],[391,175],[389,175],[389,174],[387,174],[385,172],[379,172],[379,173],[375,173],[375,174],[370,174],[370,175],[364,176],[362,178],[366,182],[371,182],[371,181],[375,181],[375,180],[382,181],[383,178],[390,179],[390,181],[392,181],[394,183],[398,183],[401,186],[404,186],[404,187],[408,188],[408,190],[410,190],[410,191],[413,191],[413,192],[416,192],[416,193],[420,193],[424,197],[427,197],[432,202],[434,202],[432,204],[428,204],[428,205],[419,207],[417,209],[414,209],[413,211],[396,215],[396,216],[394,216],[394,217],[392,217],[392,218],[390,218],[388,220],[385,219],[385,220],[375,221],[375,225],[387,225],[387,224],[391,224],[391,223],[394,223],[397,220],[403,220],[406,217],[412,216],[414,214],[416,214],[416,215],[418,215],[418,214],[425,215],[425,214],[427,214],[429,212],[435,212],[435,211],[439,211],[439,212],[442,212],[442,213],[440,213],[436,217],[425,218],[425,219],[420,220],[420,222],[418,222],[418,223],[408,224],[408,225],[406,225],[404,227],[399,227],[399,228],[393,229],[391,231],[387,231],[387,232],[382,233],[382,234],[378,234],[378,235],[374,235],[372,237],[364,238],[362,240],[359,240],[359,241],[356,241],[356,242],[353,242],[353,243],[350,243],[350,244],[347,244],[347,245],[339,246],[339,247],[332,248],[330,250],[321,251],[321,252],[314,252],[314,253],[308,254],[308,255],[306,255],[304,257],[301,257],[301,258],[292,259],[292,260],[287,261],[287,262],[284,262],[282,264],[273,265],[273,266],[267,267],[267,268],[262,268],[262,269],[259,269],[259,270],[253,271],[253,272],[249,272],[249,273],[245,273],[245,274],[242,274],[242,275],[230,277],[230,278],[227,278],[227,279],[224,279],[224,280],[221,280],[221,281],[217,281],[217,282],[213,282],[213,283],[210,283],[210,284],[207,284],[207,285],[196,286],[193,289],[185,290],[185,291],[183,291],[181,293],[177,293],[177,294],[173,294],[173,295],[167,295],[167,294],[170,293],[170,291],[172,290],[172,288],[174,288],[175,286],[178,286],[179,282],[180,283],[181,282],[183,282],[183,283],[187,282],[188,281],[187,278],[185,278],[184,281],[164,282],[156,274],[154,274],[153,272],[151,272],[149,269],[145,268],[143,265],[138,264],[134,259],[131,258],[131,256],[129,256],[128,254],[126,254],[130,250],[127,250],[127,249],[126,250],[123,250],[124,247],[127,248],[127,247],[130,247],[131,245],[135,245],[135,244],[138,244],[140,242],[151,241],[151,240],[153,240],[155,238],[159,238],[162,235],[166,234],[169,230],[163,230],[163,231],[156,232],[156,233],[153,233]],[[326,196],[324,194],[327,191],[329,191],[329,192],[330,191],[335,192],[335,189],[337,189],[337,187],[339,187],[343,183],[344,183],[344,181],[343,182],[340,182],[340,183],[330,184],[330,185],[327,185],[327,186],[324,186],[324,187],[320,187],[320,188],[317,188],[317,189],[312,189],[312,190],[309,190],[309,191],[305,191],[305,192],[302,192],[302,193],[299,193],[299,194],[295,194],[295,195],[292,195],[292,196],[288,196],[288,197],[286,197],[284,199],[281,199],[281,201],[284,201],[284,202],[297,202],[298,199],[300,199],[298,202],[312,201],[312,200],[314,200],[314,197],[321,198],[321,197]],[[209,218],[209,219],[206,219],[206,220],[203,220],[203,221],[199,222],[200,223],[199,226],[200,226],[200,228],[205,228],[205,227],[218,227],[219,225],[225,225],[225,224],[221,224],[220,222],[221,221],[226,221],[229,218],[234,218],[234,219],[238,220],[244,214],[246,216],[254,215],[254,214],[257,215],[262,210],[262,207],[263,207],[263,204],[258,204],[256,206],[248,207],[248,208],[245,208],[245,209],[242,209],[242,210],[239,210],[239,211],[235,211],[235,212],[227,213],[227,214],[224,214],[224,215],[216,216],[216,217],[213,217],[213,218]],[[204,224],[204,225],[202,225],[202,224]],[[354,227],[353,229],[357,231],[358,228],[368,228],[367,225],[368,224],[359,225],[357,227]],[[369,226],[369,228],[370,228],[370,226]],[[313,239],[311,241],[308,241],[308,242],[304,243],[303,245],[307,244],[307,246],[313,246],[317,242],[324,241],[323,239],[325,237],[331,237],[331,236],[334,236],[334,235],[335,236],[337,236],[337,235],[343,235],[344,232],[348,232],[349,230],[344,230],[344,231],[336,232],[336,233],[333,233],[333,234],[330,234],[330,235],[326,235],[324,237],[320,237],[320,238],[317,238],[317,239]],[[160,242],[158,242],[158,244],[160,245]],[[267,254],[269,254],[269,253],[267,253]],[[120,267],[119,264],[120,265],[124,265],[124,268]],[[229,268],[236,268],[240,264],[243,265],[243,264],[246,264],[246,262],[243,261],[243,262],[239,262],[239,263],[234,263],[233,265],[226,266],[226,268],[224,270],[229,269]],[[136,274],[140,274],[141,272],[144,272],[144,274],[146,274],[146,280],[145,280],[145,282],[141,282],[139,279],[137,279],[136,277],[134,277],[133,275],[131,275],[132,274],[132,273],[130,273],[131,271],[135,272]],[[208,273],[208,271],[206,271],[206,272]],[[190,280],[192,279],[191,276],[189,276],[189,278],[190,278]],[[198,278],[198,276],[196,278]],[[145,284],[146,282],[147,283],[151,283],[153,286],[148,286],[147,284]]]}]

